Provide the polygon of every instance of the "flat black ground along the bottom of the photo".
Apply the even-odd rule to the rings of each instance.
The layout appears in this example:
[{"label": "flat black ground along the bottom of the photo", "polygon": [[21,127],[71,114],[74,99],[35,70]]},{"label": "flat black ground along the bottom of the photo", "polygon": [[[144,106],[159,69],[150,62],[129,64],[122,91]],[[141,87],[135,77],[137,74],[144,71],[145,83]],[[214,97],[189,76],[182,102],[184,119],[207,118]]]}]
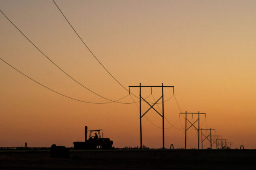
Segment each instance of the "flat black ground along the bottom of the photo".
[{"label": "flat black ground along the bottom of the photo", "polygon": [[1,170],[256,170],[256,150],[70,150],[69,159],[49,150],[0,150]]}]

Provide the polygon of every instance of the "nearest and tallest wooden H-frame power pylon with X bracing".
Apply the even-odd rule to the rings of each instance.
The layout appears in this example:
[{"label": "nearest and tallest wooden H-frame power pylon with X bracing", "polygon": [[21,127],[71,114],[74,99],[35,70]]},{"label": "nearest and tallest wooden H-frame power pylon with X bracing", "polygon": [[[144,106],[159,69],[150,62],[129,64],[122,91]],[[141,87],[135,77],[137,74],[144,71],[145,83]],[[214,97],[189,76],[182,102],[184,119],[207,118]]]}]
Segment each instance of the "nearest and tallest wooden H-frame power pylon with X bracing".
[{"label": "nearest and tallest wooden H-frame power pylon with X bracing", "polygon": [[[163,86],[163,83],[161,86],[157,86],[157,85],[140,85],[139,86],[129,86],[129,91],[130,91],[130,88],[137,88],[139,87],[140,88],[140,148],[142,148],[142,125],[141,125],[141,118],[151,109],[153,108],[154,109],[154,105],[157,104],[157,102],[162,99],[162,107],[163,107],[163,88],[174,88],[174,86]],[[144,88],[144,87],[150,87],[150,88],[162,88],[162,96],[153,104],[153,105],[150,105],[149,102],[147,102],[142,96],[141,96],[141,88]],[[174,93],[174,91],[173,91]],[[149,106],[150,108],[145,112],[145,113],[142,113],[141,112],[141,99],[143,99]],[[163,119],[163,149],[164,149],[164,109],[163,109],[163,113],[162,115],[154,109],[154,111],[156,111]]]}]

